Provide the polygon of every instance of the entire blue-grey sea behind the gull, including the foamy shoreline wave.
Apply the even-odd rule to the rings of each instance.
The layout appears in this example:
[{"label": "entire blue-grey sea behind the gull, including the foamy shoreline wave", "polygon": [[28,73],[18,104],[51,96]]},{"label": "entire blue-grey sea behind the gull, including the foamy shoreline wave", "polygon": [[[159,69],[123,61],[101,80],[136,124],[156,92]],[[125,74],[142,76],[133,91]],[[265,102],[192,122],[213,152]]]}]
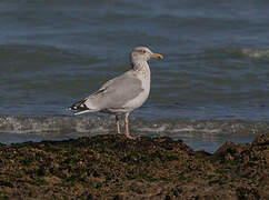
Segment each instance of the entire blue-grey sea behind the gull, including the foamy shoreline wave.
[{"label": "entire blue-grey sea behind the gull, including the foamy shoreline wave", "polygon": [[150,61],[134,134],[208,151],[250,142],[269,121],[268,13],[266,0],[2,0],[0,142],[112,133],[111,117],[66,108],[128,70],[137,46],[165,60]]}]

